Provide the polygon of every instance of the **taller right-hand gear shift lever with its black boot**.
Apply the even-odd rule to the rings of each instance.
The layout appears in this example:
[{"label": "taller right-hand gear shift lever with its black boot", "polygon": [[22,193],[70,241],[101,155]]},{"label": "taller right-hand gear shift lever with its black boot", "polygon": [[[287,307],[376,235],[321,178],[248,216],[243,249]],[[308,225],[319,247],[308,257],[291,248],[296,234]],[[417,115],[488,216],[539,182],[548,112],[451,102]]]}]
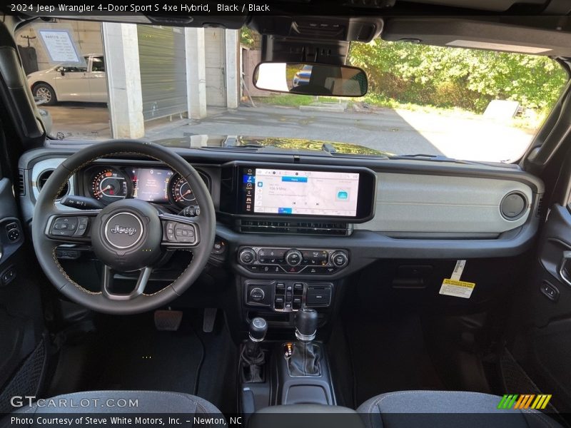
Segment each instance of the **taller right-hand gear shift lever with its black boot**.
[{"label": "taller right-hand gear shift lever with its black boot", "polygon": [[291,357],[288,359],[290,376],[319,376],[320,347],[313,344],[317,333],[318,314],[315,309],[302,307],[295,315],[295,337]]}]

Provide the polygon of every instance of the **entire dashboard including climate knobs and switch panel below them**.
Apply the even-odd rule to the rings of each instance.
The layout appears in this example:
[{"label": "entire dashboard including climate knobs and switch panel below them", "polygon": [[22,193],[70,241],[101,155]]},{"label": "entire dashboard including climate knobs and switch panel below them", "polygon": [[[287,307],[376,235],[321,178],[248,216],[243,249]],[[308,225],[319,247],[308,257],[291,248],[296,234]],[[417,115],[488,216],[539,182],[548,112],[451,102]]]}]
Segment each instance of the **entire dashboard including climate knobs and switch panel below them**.
[{"label": "entire dashboard including climate knobs and switch panel below them", "polygon": [[[20,158],[27,225],[41,183],[74,153],[68,144]],[[368,283],[427,288],[438,299],[450,260],[469,259],[474,271],[485,272],[490,267],[477,260],[521,255],[534,242],[540,221],[542,183],[509,165],[186,148],[177,153],[212,195],[217,224],[210,262],[234,274],[244,317],[258,310],[293,312],[304,304],[325,310],[342,281],[365,275],[369,267],[374,275]],[[136,157],[99,159],[71,176],[59,208],[74,210],[62,203],[63,193],[103,205],[137,198],[183,215],[196,215],[198,205],[175,171]],[[157,272],[157,283],[180,274],[186,255],[173,253]],[[56,257],[69,266],[76,260],[93,263],[89,248],[81,246],[59,248]],[[223,269],[212,272],[223,276]],[[496,290],[493,285],[482,291],[479,282],[480,295]]]}]

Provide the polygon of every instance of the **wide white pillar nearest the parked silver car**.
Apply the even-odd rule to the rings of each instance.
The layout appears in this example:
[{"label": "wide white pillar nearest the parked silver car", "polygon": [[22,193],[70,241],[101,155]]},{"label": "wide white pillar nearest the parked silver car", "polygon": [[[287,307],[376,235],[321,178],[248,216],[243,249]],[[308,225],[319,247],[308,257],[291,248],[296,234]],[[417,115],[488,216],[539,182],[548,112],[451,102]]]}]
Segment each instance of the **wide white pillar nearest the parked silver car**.
[{"label": "wide white pillar nearest the parked silver car", "polygon": [[113,138],[145,136],[136,24],[102,24]]}]

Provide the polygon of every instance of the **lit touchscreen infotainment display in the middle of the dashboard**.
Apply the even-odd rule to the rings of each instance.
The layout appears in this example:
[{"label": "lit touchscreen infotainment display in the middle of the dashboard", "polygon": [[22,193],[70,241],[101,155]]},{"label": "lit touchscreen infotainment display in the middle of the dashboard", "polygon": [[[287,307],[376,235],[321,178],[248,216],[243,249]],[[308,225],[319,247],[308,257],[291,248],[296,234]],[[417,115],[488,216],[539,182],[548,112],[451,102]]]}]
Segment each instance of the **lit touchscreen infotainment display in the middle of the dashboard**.
[{"label": "lit touchscreen infotainment display in the middle of the dashboard", "polygon": [[359,173],[244,168],[246,213],[355,217]]}]

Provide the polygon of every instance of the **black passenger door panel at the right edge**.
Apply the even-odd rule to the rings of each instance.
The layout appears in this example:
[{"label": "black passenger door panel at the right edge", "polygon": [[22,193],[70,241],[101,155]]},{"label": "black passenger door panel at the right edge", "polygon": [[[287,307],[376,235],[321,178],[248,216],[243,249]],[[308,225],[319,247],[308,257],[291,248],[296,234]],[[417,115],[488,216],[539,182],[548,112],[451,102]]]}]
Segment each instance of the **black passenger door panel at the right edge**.
[{"label": "black passenger door panel at the right edge", "polygon": [[515,360],[542,393],[552,394],[552,404],[560,412],[571,411],[570,251],[570,210],[554,205],[529,280],[514,296],[508,341]]}]

